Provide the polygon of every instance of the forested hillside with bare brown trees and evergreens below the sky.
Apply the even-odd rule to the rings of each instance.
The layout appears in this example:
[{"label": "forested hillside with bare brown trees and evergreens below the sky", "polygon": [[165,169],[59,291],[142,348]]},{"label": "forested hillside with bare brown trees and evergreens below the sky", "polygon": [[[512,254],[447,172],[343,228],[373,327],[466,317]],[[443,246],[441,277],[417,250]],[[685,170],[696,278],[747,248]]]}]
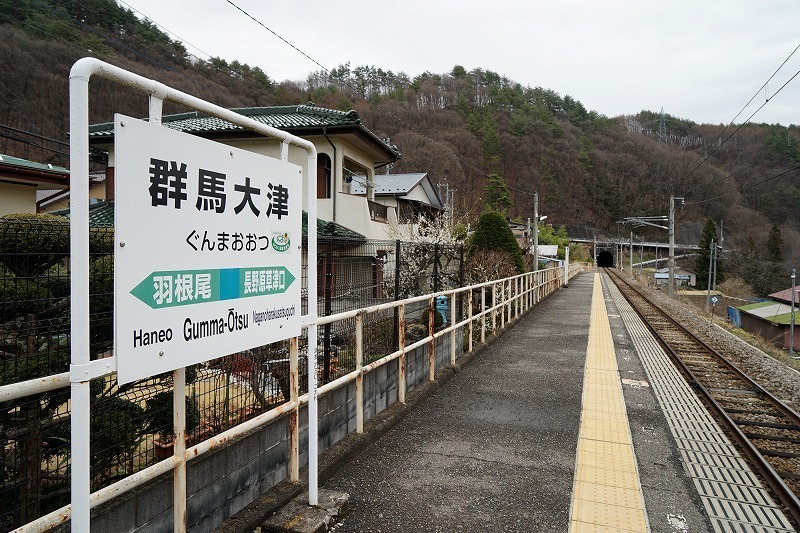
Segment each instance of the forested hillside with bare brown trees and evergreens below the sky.
[{"label": "forested hillside with bare brown trees and evergreens below the sky", "polygon": [[[731,256],[731,264],[766,258],[773,224],[781,230],[783,258],[798,258],[797,126],[725,128],[669,110],[663,117],[655,110],[607,117],[587,110],[578,95],[542,88],[547,79],[525,87],[460,65],[410,75],[385,70],[390,65],[344,63],[304,82],[278,82],[235,58],[198,59],[111,0],[0,0],[0,153],[68,163],[67,79],[74,61],[87,55],[223,106],[310,100],[356,109],[402,152],[393,172],[424,171],[448,183],[457,190],[458,214],[468,220],[483,209],[491,174],[511,189],[510,216],[532,216],[531,193],[538,191],[548,222],[614,233],[624,217],[666,215],[674,194],[686,202],[679,226],[697,228],[698,239],[705,219],[724,220],[726,246],[749,254]],[[93,82],[92,91],[93,122],[113,112],[146,115],[145,99],[118,85]]]}]

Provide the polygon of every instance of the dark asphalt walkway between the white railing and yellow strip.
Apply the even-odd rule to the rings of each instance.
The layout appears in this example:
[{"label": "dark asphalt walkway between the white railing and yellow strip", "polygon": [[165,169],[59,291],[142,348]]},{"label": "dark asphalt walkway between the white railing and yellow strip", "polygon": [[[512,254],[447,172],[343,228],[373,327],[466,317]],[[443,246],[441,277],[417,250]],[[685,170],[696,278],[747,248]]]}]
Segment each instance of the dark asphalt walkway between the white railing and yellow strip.
[{"label": "dark asphalt walkway between the white railing and yellow strip", "polygon": [[343,466],[336,531],[567,531],[592,288],[575,278]]}]

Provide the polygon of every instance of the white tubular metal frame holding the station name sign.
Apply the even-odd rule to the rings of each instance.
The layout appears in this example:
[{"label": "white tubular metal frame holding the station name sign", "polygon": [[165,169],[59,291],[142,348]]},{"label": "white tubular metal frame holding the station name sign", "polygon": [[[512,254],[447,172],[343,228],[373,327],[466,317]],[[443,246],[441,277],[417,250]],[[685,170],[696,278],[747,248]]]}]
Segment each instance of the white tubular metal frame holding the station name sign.
[{"label": "white tubular metal frame holding the station name sign", "polygon": [[[90,528],[90,392],[89,381],[116,370],[115,356],[105,359],[89,358],[89,81],[92,76],[124,85],[149,97],[149,120],[161,123],[164,101],[184,105],[222,120],[252,130],[281,142],[280,159],[288,161],[289,145],[307,153],[306,198],[308,212],[308,313],[302,325],[308,328],[308,500],[318,503],[318,408],[317,408],[317,151],[310,141],[279,129],[256,122],[238,113],[178,91],[160,82],[105,63],[95,58],[79,59],[69,76],[70,103],[70,313],[71,364],[70,388],[72,416],[70,417],[72,478],[71,528],[89,531]],[[174,372],[175,456],[174,530],[186,530],[186,459],[184,401],[185,369]],[[179,401],[175,401],[179,400]],[[179,494],[181,493],[181,494]]]}]

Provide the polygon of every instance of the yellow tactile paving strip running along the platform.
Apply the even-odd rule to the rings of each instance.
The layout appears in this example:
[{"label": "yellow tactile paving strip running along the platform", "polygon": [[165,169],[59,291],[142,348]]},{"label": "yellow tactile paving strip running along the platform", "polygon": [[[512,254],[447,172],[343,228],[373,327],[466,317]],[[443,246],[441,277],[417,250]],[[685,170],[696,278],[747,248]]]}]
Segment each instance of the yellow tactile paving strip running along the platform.
[{"label": "yellow tactile paving strip running along the platform", "polygon": [[570,531],[649,531],[599,274],[592,292]]}]

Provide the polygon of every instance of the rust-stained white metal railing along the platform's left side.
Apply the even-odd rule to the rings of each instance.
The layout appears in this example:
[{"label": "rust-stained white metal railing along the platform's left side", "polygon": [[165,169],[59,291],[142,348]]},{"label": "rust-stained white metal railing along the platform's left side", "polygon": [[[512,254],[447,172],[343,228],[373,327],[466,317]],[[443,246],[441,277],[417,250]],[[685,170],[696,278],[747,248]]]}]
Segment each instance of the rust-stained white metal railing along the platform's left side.
[{"label": "rust-stained white metal railing along the platform's left side", "polygon": [[[528,272],[519,274],[504,279],[487,281],[483,283],[476,283],[466,287],[456,289],[449,289],[439,291],[437,293],[426,294],[404,300],[386,302],[371,307],[362,309],[346,311],[335,315],[320,317],[317,320],[318,325],[332,324],[348,319],[355,319],[356,331],[356,366],[355,370],[329,382],[317,389],[318,396],[322,396],[331,392],[343,385],[355,382],[356,394],[356,432],[363,433],[364,431],[364,401],[363,401],[363,378],[364,376],[384,365],[393,361],[398,361],[398,401],[405,403],[406,401],[406,365],[405,356],[411,350],[420,346],[428,345],[428,380],[433,381],[436,374],[435,363],[435,341],[438,338],[449,336],[450,337],[450,363],[455,364],[457,349],[456,349],[456,334],[459,329],[467,328],[467,352],[472,352],[474,345],[474,337],[476,329],[480,330],[480,343],[486,342],[487,333],[490,335],[498,334],[498,329],[505,329],[506,325],[516,320],[519,316],[525,313],[534,305],[541,302],[544,298],[558,290],[560,287],[565,286],[570,279],[576,276],[579,272],[591,269],[589,264],[570,264],[565,267],[550,268],[547,270],[539,270],[537,272]],[[477,294],[480,292],[480,311],[473,312]],[[456,298],[466,293],[467,305],[464,310],[464,315],[460,321],[456,316]],[[491,298],[487,307],[487,293]],[[449,298],[450,308],[450,321],[447,327],[436,331],[435,328],[435,309],[436,298],[445,296]],[[427,302],[428,303],[428,335],[410,345],[405,344],[405,327],[406,327],[406,309],[409,305]],[[364,364],[364,342],[363,342],[363,327],[364,317],[377,313],[380,311],[387,311],[398,309],[399,316],[399,347],[394,352],[387,354],[375,361]],[[162,474],[174,470],[178,465],[184,465],[187,461],[195,459],[201,455],[211,452],[220,445],[232,441],[235,438],[244,435],[255,428],[265,426],[270,422],[289,415],[291,417],[289,424],[290,443],[289,446],[289,479],[293,482],[299,481],[300,471],[300,458],[299,458],[299,408],[308,403],[308,393],[299,394],[299,365],[298,365],[298,339],[290,339],[289,350],[289,370],[290,370],[290,397],[289,401],[273,408],[272,410],[262,413],[250,420],[236,425],[235,427],[217,434],[207,440],[204,440],[194,446],[186,449],[179,449],[175,446],[174,455],[164,459],[148,468],[145,468],[133,475],[130,475],[116,483],[104,487],[91,494],[89,499],[90,508],[94,508],[104,502],[107,502],[114,497],[123,494],[131,489],[134,489],[147,481],[150,481]],[[44,390],[53,390],[69,386],[68,374],[49,376],[41,380],[31,380],[23,383],[16,383],[12,385],[5,385],[0,387],[0,399],[9,401],[19,399],[36,392]],[[183,402],[179,402],[181,405]],[[185,416],[185,413],[183,414]],[[185,424],[184,421],[176,421],[176,425]],[[184,493],[184,498],[185,498]],[[185,505],[185,502],[184,502]],[[71,516],[71,505],[67,505],[58,509],[48,515],[45,515],[33,522],[22,526],[19,531],[46,531],[55,525],[66,522]]]}]

